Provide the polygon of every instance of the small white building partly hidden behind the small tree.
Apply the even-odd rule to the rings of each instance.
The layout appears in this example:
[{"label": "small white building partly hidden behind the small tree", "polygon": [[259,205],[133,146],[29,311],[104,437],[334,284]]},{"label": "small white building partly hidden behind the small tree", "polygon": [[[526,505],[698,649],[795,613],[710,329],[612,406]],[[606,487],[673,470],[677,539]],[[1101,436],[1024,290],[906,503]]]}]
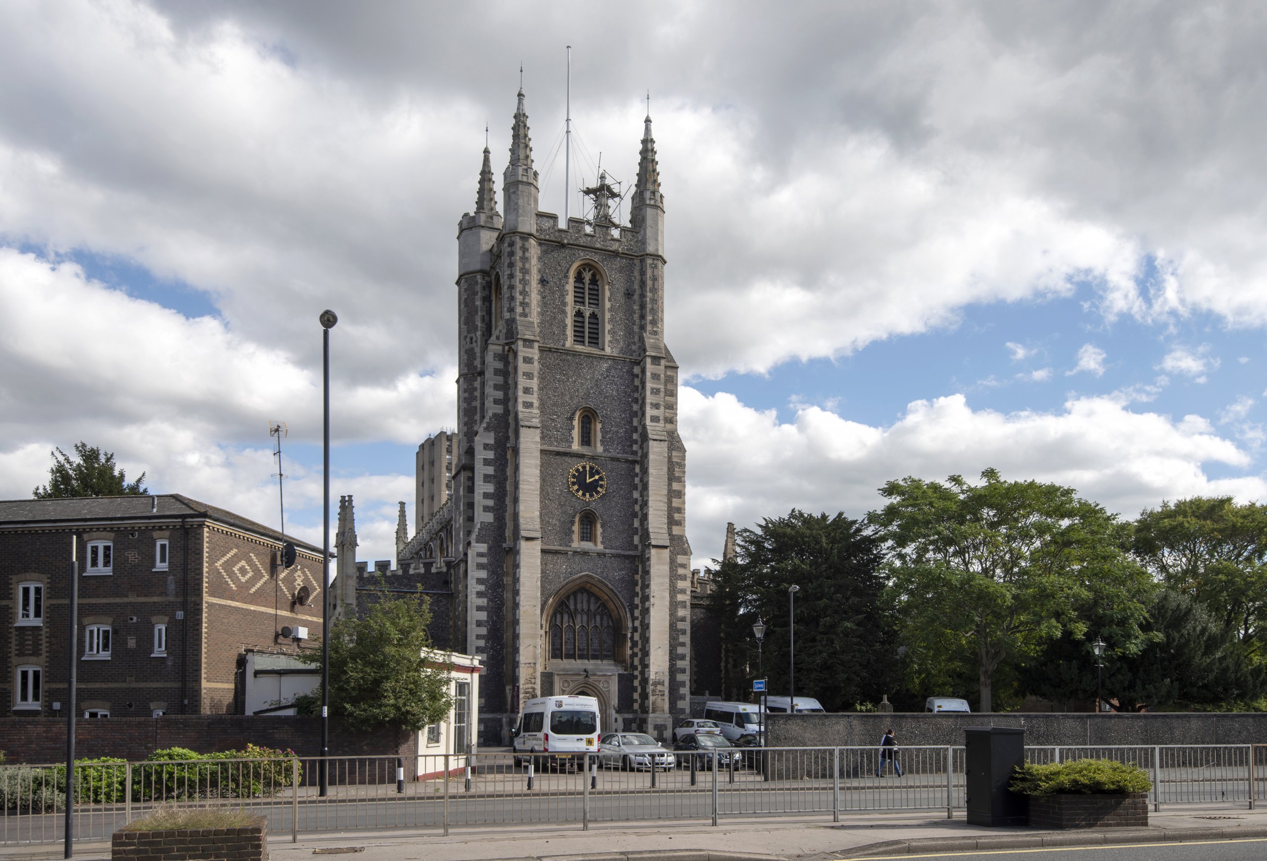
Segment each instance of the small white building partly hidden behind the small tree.
[{"label": "small white building partly hidden behind the small tree", "polygon": [[[449,667],[449,694],[454,705],[440,723],[423,727],[417,738],[414,776],[418,779],[466,767],[466,755],[479,745],[474,728],[479,726],[480,660],[473,655],[432,651],[426,656],[433,665]],[[248,651],[243,662],[245,713],[258,717],[294,715],[291,705],[299,694],[309,694],[321,684],[321,666],[302,663],[293,655]]]}]

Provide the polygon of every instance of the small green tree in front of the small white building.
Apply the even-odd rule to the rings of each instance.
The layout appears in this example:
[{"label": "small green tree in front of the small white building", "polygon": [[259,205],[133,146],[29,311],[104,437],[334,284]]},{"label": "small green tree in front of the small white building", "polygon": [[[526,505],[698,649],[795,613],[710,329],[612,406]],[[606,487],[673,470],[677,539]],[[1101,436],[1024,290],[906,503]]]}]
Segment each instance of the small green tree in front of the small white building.
[{"label": "small green tree in front of the small white building", "polygon": [[[394,726],[417,732],[443,720],[452,708],[449,665],[431,650],[430,622],[426,595],[393,594],[380,580],[361,615],[331,628],[331,714],[360,731]],[[321,663],[321,653],[304,652],[300,660]],[[319,688],[313,696],[321,696]]]}]

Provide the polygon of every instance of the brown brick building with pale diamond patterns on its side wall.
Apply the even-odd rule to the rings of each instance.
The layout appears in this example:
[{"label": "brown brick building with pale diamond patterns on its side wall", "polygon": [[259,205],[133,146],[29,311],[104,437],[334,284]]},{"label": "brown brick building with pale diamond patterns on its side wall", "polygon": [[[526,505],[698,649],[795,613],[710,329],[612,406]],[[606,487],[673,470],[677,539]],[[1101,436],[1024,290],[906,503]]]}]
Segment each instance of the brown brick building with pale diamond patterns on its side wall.
[{"label": "brown brick building with pale diamond patterns on its side wall", "polygon": [[275,529],[179,494],[0,501],[8,714],[61,714],[72,541],[85,717],[241,713],[247,650],[321,647],[321,548],[283,569]]}]

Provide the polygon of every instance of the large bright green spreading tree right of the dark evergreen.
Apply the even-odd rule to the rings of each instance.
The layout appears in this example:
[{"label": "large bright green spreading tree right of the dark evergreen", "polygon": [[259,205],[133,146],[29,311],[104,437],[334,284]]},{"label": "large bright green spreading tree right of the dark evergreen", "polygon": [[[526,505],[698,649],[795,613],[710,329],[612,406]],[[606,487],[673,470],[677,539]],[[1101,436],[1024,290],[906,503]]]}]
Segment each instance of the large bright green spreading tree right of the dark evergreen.
[{"label": "large bright green spreading tree right of the dark evergreen", "polygon": [[992,468],[981,477],[889,481],[881,494],[891,501],[869,515],[888,542],[911,686],[952,694],[974,667],[990,712],[996,675],[1066,632],[1085,638],[1091,606],[1119,620],[1117,652],[1138,652],[1149,579],[1126,552],[1129,524],[1072,487],[1003,481]]}]

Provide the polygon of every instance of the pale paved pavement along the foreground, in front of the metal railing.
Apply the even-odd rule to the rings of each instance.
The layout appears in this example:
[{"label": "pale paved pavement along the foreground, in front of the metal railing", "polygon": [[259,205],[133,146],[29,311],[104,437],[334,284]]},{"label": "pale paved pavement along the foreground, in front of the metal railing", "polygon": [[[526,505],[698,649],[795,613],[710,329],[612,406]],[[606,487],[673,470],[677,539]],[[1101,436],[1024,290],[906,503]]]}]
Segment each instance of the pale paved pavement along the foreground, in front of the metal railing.
[{"label": "pale paved pavement along the foreground, in front of the metal railing", "polygon": [[[1150,814],[1153,827],[1143,833],[1150,842],[1162,837],[1182,839],[1224,841],[1235,837],[1267,837],[1267,810],[1235,810],[1226,805],[1209,809],[1186,807],[1181,812]],[[588,856],[589,861],[751,861],[773,858],[799,858],[805,861],[832,861],[862,857],[957,857],[978,856],[988,851],[1006,851],[1033,847],[1035,838],[1048,843],[1093,839],[1096,851],[1107,851],[1106,842],[1142,842],[1139,832],[1117,829],[1092,829],[1090,832],[1039,832],[1030,828],[981,828],[968,826],[960,818],[948,820],[926,813],[850,814],[839,826],[824,817],[812,818],[749,818],[722,820],[718,827],[707,823],[660,823],[639,826],[592,826],[582,831],[578,826],[500,826],[497,828],[452,828],[449,837],[435,831],[385,832],[352,831],[300,836],[298,843],[289,842],[289,834],[272,834],[269,845],[274,861],[307,861],[314,855],[333,853],[331,850],[362,847],[357,861],[519,861],[523,858],[554,860]],[[971,842],[971,843],[969,843]],[[1248,848],[1219,848],[1205,843],[1205,853],[1166,853],[1162,846],[1140,848],[1135,855],[1116,855],[1111,861],[1187,861],[1190,858],[1215,858],[1239,861],[1242,857],[1267,856],[1267,841],[1242,845]],[[1223,846],[1223,843],[1218,843]],[[1164,847],[1168,848],[1168,845]],[[1194,847],[1195,850],[1196,847]],[[708,855],[706,856],[704,852]],[[941,855],[935,855],[941,852]],[[1031,848],[1033,852],[1033,848]],[[1026,853],[1026,858],[1034,861]],[[1153,852],[1149,855],[1148,852]],[[1242,855],[1237,855],[1242,852]],[[1247,853],[1248,852],[1248,853]],[[644,855],[646,853],[646,855]],[[1007,853],[1011,855],[1011,853]],[[991,855],[1006,858],[1007,855]],[[1047,852],[1040,858],[1047,857]],[[642,856],[642,857],[639,857]],[[60,846],[0,848],[0,858],[52,858],[61,857]],[[105,843],[76,847],[76,858],[95,861],[109,857]],[[1071,856],[1072,857],[1072,856]],[[1078,857],[1086,857],[1086,850]],[[1053,853],[1053,861],[1062,858]],[[350,860],[351,861],[351,860]]]}]

